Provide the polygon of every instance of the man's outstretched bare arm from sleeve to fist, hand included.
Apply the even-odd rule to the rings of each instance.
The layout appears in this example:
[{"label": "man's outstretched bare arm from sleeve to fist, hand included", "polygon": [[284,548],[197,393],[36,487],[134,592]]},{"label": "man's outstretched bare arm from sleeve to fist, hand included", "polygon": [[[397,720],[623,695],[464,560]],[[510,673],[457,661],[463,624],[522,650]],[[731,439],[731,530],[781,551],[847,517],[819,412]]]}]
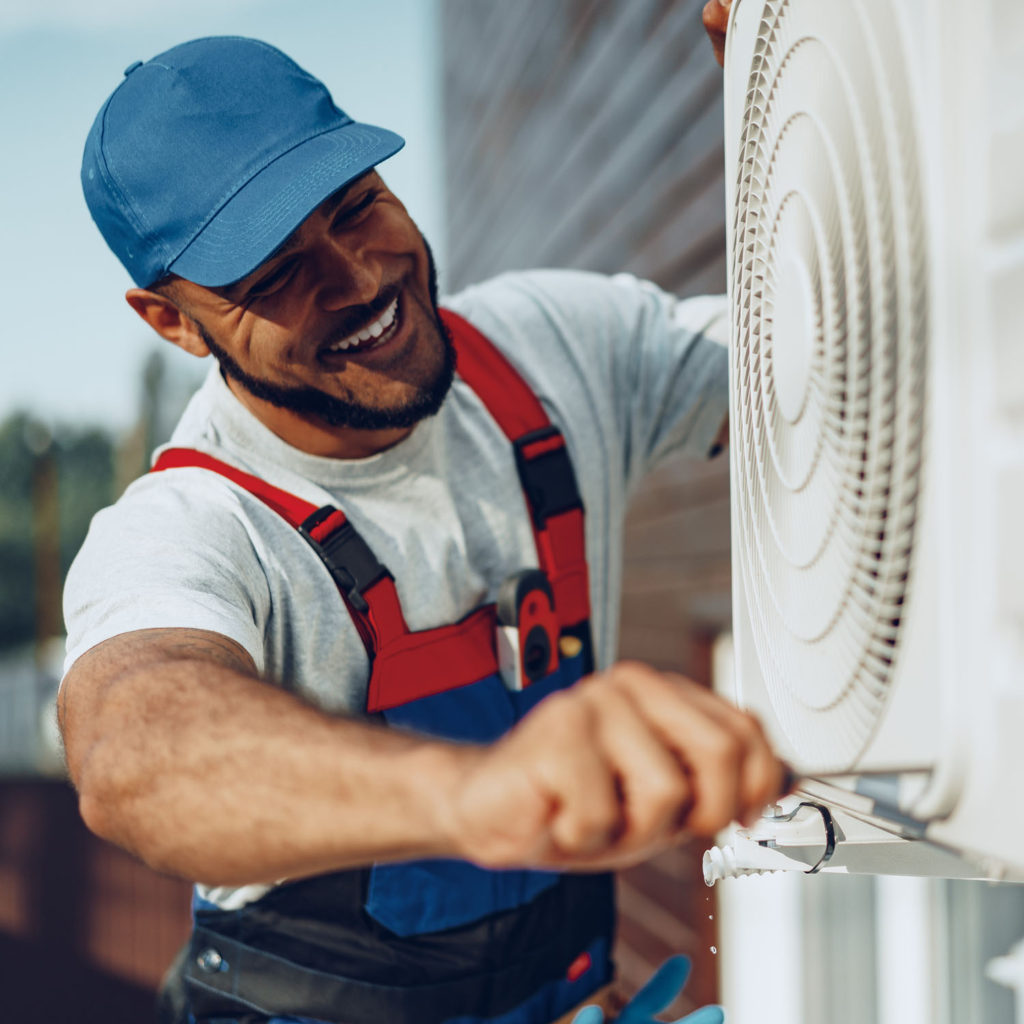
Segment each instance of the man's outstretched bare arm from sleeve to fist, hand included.
[{"label": "man's outstretched bare arm from sleeve to fist, hand included", "polygon": [[635,664],[478,746],[325,714],[218,634],[143,630],[79,657],[59,714],[89,826],[209,885],[418,857],[624,866],[756,814],[782,780],[754,719]]}]

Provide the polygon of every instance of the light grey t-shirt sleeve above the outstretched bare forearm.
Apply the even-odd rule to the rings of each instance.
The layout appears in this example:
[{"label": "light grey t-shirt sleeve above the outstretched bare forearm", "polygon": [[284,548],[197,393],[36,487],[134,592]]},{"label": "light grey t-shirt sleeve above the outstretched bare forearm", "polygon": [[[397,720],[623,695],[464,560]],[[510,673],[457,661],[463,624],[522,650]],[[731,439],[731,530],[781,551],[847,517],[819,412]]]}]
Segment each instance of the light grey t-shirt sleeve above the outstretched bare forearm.
[{"label": "light grey t-shirt sleeve above the outstretched bare forearm", "polygon": [[199,470],[191,486],[165,474],[133,483],[93,518],[65,586],[65,671],[121,633],[186,628],[220,633],[264,668],[269,589],[240,499]]}]

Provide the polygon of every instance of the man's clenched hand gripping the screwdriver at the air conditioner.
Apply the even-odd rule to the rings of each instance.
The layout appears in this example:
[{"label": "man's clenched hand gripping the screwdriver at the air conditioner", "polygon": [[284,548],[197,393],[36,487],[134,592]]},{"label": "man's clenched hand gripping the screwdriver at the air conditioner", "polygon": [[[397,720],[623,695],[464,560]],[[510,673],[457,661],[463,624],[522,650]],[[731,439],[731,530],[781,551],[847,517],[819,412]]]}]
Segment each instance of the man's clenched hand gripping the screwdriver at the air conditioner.
[{"label": "man's clenched hand gripping the screwdriver at the air conditioner", "polygon": [[612,869],[760,813],[783,769],[750,715],[622,663],[459,758],[446,830],[486,867]]}]

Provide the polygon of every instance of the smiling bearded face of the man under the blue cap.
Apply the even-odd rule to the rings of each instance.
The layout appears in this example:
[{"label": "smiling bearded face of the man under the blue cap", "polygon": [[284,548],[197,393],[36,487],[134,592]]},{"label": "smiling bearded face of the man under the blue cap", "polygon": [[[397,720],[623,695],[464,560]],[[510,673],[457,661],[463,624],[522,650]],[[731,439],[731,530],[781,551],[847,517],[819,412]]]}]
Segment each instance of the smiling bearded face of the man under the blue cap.
[{"label": "smiling bearded face of the man under the blue cap", "polygon": [[175,288],[232,389],[297,446],[325,426],[410,427],[451,385],[429,249],[376,171],[242,281]]}]

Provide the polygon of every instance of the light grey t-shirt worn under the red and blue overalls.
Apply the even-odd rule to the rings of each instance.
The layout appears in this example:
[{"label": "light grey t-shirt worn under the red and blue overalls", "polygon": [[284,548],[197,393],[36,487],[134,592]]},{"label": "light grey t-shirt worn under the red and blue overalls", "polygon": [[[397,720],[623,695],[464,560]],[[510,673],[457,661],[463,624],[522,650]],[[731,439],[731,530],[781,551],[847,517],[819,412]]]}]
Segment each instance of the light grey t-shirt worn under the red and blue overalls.
[{"label": "light grey t-shirt worn under the red and blue overalls", "polygon": [[[725,299],[550,270],[505,274],[444,304],[506,353],[565,435],[586,508],[595,658],[607,666],[630,492],[670,452],[705,457],[726,415]],[[341,508],[393,574],[412,630],[462,618],[538,564],[511,445],[458,377],[440,412],[399,444],[337,460],[271,433],[212,368],[171,444]],[[294,527],[208,470],[143,476],[95,516],[65,617],[66,669],[120,633],[212,630],[321,708],[365,707],[366,651],[326,567]]]}]

